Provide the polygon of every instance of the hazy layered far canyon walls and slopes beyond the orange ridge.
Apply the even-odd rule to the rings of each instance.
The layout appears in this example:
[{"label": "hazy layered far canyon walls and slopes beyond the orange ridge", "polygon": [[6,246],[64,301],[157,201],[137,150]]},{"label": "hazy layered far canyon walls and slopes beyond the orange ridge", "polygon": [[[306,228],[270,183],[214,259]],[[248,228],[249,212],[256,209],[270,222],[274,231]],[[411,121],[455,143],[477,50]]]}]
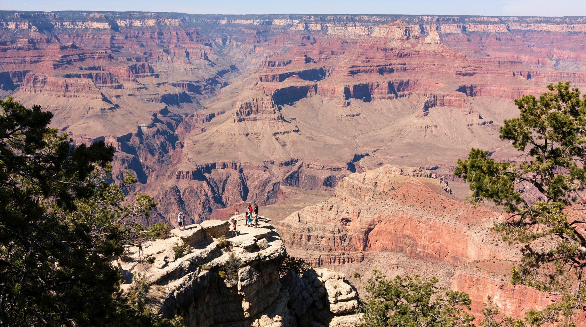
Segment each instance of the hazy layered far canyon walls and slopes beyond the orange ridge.
[{"label": "hazy layered far canyon walls and slopes beyond the orange ridge", "polygon": [[0,96],[40,104],[194,222],[384,163],[449,175],[512,99],[586,85],[585,18],[0,11]]}]

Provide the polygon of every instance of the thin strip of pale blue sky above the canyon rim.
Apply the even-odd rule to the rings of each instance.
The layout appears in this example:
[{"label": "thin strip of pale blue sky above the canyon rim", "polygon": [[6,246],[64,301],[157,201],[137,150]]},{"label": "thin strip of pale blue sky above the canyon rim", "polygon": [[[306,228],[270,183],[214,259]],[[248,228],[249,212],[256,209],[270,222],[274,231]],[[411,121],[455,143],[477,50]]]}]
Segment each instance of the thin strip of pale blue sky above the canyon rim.
[{"label": "thin strip of pale blue sky above the canyon rim", "polygon": [[0,10],[586,16],[586,0],[0,0]]}]

